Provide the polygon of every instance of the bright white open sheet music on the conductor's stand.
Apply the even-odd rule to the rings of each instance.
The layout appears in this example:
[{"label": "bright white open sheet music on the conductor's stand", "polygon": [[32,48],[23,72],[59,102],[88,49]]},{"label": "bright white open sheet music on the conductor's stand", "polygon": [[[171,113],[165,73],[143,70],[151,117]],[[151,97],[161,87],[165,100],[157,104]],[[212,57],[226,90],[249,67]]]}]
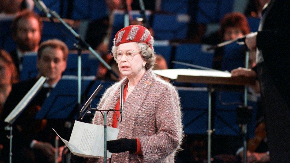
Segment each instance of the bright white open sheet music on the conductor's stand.
[{"label": "bright white open sheet music on the conductor's stand", "polygon": [[163,69],[163,70],[154,70],[154,73],[160,76],[170,78],[172,80],[177,79],[178,75],[231,77],[231,73],[227,71],[200,70],[200,69]]}]

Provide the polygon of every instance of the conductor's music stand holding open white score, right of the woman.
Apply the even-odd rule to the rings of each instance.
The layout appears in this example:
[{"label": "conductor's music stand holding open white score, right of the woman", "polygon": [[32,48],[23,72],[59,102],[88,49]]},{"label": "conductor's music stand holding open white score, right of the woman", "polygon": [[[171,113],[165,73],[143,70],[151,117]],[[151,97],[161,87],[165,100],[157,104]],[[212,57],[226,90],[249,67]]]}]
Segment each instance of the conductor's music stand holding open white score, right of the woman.
[{"label": "conductor's music stand holding open white score, right of the woman", "polygon": [[[231,77],[229,72],[222,72],[218,70],[198,70],[198,69],[165,69],[154,70],[154,73],[171,80],[185,83],[205,83],[208,84],[208,157],[207,161],[211,162],[211,135],[214,132],[211,125],[212,119],[212,93],[214,89],[213,84],[227,84],[227,85],[253,85],[254,78],[246,77]],[[245,98],[246,101],[247,98]],[[246,103],[246,102],[245,102]]]}]

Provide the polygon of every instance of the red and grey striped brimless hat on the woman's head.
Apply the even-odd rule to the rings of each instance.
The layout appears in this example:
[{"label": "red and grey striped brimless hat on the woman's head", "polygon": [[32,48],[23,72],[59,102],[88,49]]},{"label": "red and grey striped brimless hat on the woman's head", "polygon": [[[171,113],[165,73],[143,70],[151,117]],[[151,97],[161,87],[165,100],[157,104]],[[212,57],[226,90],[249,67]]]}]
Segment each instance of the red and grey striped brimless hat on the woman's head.
[{"label": "red and grey striped brimless hat on the woman's head", "polygon": [[131,25],[118,31],[114,38],[114,46],[127,42],[145,43],[153,49],[154,39],[144,26]]}]

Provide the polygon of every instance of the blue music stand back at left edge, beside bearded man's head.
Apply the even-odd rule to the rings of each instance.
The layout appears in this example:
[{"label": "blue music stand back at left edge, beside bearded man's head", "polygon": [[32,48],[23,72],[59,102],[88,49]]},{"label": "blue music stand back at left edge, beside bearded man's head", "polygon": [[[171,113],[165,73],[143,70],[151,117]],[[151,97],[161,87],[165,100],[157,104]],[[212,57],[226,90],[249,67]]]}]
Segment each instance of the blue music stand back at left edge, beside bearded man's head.
[{"label": "blue music stand back at left edge, beside bearded man's head", "polygon": [[0,21],[0,46],[8,52],[16,49],[16,44],[12,38],[11,23],[12,20]]}]

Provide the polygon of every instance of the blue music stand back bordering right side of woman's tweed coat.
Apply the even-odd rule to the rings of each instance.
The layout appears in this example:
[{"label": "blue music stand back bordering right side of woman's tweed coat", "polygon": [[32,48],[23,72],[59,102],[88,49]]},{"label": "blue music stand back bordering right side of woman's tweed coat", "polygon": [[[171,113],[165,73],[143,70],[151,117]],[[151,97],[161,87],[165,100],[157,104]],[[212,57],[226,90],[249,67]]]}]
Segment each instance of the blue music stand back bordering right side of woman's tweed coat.
[{"label": "blue music stand back bordering right side of woman's tweed coat", "polygon": [[208,93],[205,90],[177,88],[182,108],[185,134],[206,134],[208,119]]}]

